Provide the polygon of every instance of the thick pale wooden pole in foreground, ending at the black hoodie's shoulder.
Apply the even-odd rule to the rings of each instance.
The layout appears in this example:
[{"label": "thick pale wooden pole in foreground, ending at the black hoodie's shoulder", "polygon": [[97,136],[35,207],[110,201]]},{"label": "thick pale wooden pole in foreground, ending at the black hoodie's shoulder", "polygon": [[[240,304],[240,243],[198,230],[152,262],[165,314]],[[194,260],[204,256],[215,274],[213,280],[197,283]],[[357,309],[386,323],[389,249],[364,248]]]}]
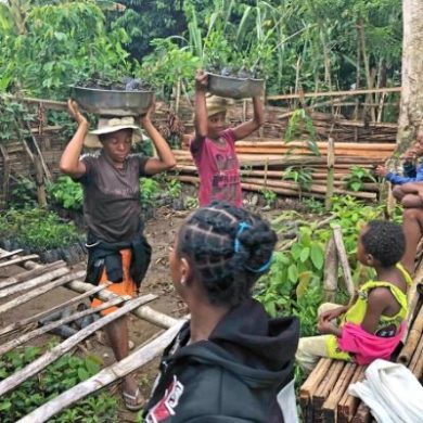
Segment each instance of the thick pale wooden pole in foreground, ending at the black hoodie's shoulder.
[{"label": "thick pale wooden pole in foreground, ending at the black hoodie's shoulder", "polygon": [[180,331],[182,324],[184,324],[184,321],[179,320],[175,325],[149,343],[149,345],[138,349],[119,362],[101,370],[99,373],[88,379],[87,381],[79,383],[65,393],[51,399],[49,402],[42,405],[31,413],[21,419],[18,423],[44,422],[53,415],[57,414],[61,410],[72,406],[76,401],[110,385],[120,377],[125,377],[127,374],[146,364],[155,357],[157,357],[164,348],[167,347],[170,341]]}]

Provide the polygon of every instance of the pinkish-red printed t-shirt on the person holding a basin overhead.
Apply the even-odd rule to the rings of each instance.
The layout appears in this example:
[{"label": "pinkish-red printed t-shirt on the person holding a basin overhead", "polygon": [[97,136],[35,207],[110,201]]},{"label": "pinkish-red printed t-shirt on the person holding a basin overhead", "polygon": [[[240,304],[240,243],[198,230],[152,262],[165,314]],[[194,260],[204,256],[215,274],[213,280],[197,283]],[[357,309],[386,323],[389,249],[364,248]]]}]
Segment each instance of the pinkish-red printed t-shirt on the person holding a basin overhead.
[{"label": "pinkish-red printed t-shirt on the person holding a basin overhead", "polygon": [[200,148],[194,146],[194,139],[190,143],[200,175],[200,206],[218,200],[242,207],[240,163],[233,130],[225,130],[220,139],[226,141],[225,146],[216,145],[209,138],[205,138]]}]

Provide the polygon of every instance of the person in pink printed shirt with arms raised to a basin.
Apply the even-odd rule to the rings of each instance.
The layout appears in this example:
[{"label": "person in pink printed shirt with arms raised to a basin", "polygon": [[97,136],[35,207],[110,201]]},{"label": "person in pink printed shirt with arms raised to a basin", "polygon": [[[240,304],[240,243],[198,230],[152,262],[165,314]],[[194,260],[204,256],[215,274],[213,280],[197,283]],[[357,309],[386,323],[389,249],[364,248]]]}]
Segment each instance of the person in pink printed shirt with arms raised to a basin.
[{"label": "person in pink printed shirt with arms raised to a basin", "polygon": [[235,128],[226,128],[227,99],[206,98],[208,76],[198,70],[195,77],[195,136],[190,150],[200,175],[200,206],[214,200],[242,207],[240,163],[235,141],[248,137],[264,124],[260,98],[253,98],[253,119]]}]

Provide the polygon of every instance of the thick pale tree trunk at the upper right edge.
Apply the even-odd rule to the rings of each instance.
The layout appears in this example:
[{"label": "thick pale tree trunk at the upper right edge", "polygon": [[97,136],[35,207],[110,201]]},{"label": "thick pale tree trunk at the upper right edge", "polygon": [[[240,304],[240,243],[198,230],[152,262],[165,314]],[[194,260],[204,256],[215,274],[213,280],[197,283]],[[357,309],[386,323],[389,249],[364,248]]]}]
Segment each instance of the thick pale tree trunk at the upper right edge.
[{"label": "thick pale tree trunk at the upper right edge", "polygon": [[402,1],[402,91],[398,119],[397,149],[402,154],[423,129],[423,2]]}]

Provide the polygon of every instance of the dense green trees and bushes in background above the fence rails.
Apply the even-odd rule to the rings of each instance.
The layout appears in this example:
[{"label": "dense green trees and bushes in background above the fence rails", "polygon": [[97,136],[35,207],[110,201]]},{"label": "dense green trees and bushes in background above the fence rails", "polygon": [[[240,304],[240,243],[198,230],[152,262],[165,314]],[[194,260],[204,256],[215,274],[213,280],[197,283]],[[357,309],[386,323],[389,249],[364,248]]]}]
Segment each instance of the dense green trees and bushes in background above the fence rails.
[{"label": "dense green trees and bushes in background above the fence rails", "polygon": [[134,73],[169,95],[217,65],[254,67],[270,93],[399,82],[399,0],[118,3],[0,4],[0,90],[60,98],[73,81]]}]

